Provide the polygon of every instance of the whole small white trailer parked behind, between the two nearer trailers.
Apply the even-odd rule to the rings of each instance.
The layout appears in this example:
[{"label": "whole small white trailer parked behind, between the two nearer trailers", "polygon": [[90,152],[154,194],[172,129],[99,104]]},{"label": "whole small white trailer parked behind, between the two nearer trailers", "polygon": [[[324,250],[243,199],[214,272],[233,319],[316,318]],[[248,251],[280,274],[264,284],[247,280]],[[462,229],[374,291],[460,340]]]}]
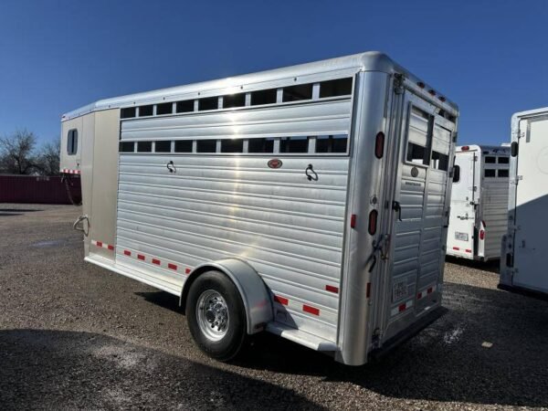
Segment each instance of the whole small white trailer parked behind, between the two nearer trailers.
[{"label": "whole small white trailer parked behind, between the two nearer trailers", "polygon": [[501,258],[508,215],[509,146],[464,145],[455,151],[448,255]]}]

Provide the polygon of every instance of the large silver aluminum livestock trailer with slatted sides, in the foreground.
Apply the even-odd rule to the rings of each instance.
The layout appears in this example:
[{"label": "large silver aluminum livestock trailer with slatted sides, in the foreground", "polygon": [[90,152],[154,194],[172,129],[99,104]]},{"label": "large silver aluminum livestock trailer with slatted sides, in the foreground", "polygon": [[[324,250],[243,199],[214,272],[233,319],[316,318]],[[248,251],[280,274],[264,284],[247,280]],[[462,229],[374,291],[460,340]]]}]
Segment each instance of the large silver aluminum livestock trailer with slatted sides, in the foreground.
[{"label": "large silver aluminum livestock trailer with slatted sides, in the foreground", "polygon": [[178,296],[205,353],[267,330],[357,365],[441,312],[457,117],[369,52],[100,100],[61,168],[86,261]]}]

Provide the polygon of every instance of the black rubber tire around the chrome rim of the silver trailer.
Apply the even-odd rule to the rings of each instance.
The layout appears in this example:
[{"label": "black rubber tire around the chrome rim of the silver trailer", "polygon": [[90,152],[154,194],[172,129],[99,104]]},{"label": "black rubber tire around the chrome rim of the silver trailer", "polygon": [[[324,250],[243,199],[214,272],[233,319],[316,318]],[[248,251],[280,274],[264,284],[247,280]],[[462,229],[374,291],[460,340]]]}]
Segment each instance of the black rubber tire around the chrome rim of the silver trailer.
[{"label": "black rubber tire around the chrome rim of the silver trailer", "polygon": [[[213,341],[202,331],[197,315],[200,311],[197,307],[199,299],[210,290],[214,290],[222,296],[228,312],[226,333],[217,341]],[[219,271],[207,271],[200,274],[188,291],[185,313],[188,329],[200,350],[223,362],[230,361],[237,356],[246,341],[247,318],[240,293],[227,275]]]}]

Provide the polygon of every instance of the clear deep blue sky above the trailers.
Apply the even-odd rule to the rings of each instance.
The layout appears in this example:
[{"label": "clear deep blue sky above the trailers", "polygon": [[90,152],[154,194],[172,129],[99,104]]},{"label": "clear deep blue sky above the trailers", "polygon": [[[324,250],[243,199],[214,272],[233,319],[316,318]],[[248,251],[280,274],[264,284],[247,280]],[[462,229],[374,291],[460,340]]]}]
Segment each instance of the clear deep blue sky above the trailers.
[{"label": "clear deep blue sky above the trailers", "polygon": [[0,3],[0,135],[58,138],[94,100],[367,50],[456,101],[460,143],[509,140],[548,106],[548,2]]}]

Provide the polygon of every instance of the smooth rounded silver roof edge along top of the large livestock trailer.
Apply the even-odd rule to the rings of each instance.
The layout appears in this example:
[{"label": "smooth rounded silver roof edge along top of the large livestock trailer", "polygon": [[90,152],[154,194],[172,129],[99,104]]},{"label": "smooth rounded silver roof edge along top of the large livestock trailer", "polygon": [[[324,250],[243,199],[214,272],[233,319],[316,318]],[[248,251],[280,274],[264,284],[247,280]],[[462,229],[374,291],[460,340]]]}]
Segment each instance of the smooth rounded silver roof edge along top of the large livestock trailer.
[{"label": "smooth rounded silver roof edge along top of the large livestock trailer", "polygon": [[[191,100],[193,98],[202,97],[201,95],[204,94],[205,91],[209,90],[225,90],[225,94],[234,92],[245,92],[246,90],[242,89],[243,85],[257,85],[258,83],[268,82],[275,79],[295,78],[313,73],[325,73],[329,71],[337,71],[349,68],[355,68],[356,71],[404,73],[407,79],[410,79],[415,83],[422,83],[423,88],[432,90],[431,87],[426,86],[423,81],[416,78],[416,76],[413,75],[411,72],[407,71],[405,68],[402,68],[400,65],[395,63],[394,60],[386,56],[384,53],[378,51],[368,51],[340,58],[330,58],[312,63],[304,63],[296,66],[275,68],[267,71],[259,71],[257,73],[244,74],[240,76],[229,77],[226,79],[202,81],[199,83],[193,83],[184,86],[151,90],[135,94],[128,94],[121,97],[114,97],[111,99],[98,100],[94,103],[80,107],[75,111],[69,111],[62,116],[62,121],[79,117],[92,111],[108,110],[121,107],[133,107],[141,105],[143,103],[153,104],[157,102],[174,101],[181,98]],[[200,95],[198,93],[200,93]],[[445,100],[445,102],[438,101],[437,104],[439,104],[440,106],[444,106],[445,108],[451,109],[452,111],[458,111],[458,106],[448,99]]]}]

